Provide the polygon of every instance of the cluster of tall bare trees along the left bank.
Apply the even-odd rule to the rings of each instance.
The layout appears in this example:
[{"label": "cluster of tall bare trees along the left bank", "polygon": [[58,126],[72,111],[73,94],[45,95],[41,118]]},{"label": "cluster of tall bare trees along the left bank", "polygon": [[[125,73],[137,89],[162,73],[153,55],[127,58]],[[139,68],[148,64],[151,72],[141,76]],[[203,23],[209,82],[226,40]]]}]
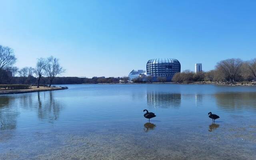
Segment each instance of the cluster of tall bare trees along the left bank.
[{"label": "cluster of tall bare trees along the left bank", "polygon": [[36,67],[21,69],[14,66],[16,60],[12,48],[0,45],[0,84],[36,84],[37,81],[39,88],[42,80],[44,85],[49,84],[51,87],[55,77],[65,72],[59,64],[59,59],[53,56],[37,59]]}]

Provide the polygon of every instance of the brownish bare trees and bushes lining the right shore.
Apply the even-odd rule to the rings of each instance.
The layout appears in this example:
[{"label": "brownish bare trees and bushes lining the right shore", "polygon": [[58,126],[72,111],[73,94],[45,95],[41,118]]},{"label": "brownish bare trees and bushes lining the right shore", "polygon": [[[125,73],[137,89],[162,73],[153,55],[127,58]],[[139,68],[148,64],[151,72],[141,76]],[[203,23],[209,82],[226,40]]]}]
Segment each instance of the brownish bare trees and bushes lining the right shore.
[{"label": "brownish bare trees and bushes lining the right shore", "polygon": [[185,70],[176,73],[172,78],[176,83],[192,83],[198,81],[236,83],[256,80],[256,58],[250,61],[232,58],[219,61],[214,70],[194,73]]}]

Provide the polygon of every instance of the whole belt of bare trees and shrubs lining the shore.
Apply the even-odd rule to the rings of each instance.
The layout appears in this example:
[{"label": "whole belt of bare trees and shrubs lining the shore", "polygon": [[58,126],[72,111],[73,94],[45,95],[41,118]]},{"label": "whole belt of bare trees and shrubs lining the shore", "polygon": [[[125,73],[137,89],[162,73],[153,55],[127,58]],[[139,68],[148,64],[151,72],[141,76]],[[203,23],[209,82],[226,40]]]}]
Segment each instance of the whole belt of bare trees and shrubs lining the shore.
[{"label": "whole belt of bare trees and shrubs lining the shore", "polygon": [[[40,86],[84,84],[84,83],[129,83],[129,77],[56,77],[64,73],[65,69],[60,66],[55,57],[39,58],[36,67],[15,67],[16,57],[10,47],[0,45],[0,84],[20,84]],[[153,77],[138,77],[132,79],[134,83],[152,83]],[[174,83],[194,82],[220,82],[220,83],[248,83],[256,81],[256,58],[250,61],[241,59],[226,59],[219,61],[214,70],[194,73],[185,70],[176,73],[172,78]],[[166,77],[158,77],[158,83],[165,83]],[[7,85],[4,85],[8,88]]]}]

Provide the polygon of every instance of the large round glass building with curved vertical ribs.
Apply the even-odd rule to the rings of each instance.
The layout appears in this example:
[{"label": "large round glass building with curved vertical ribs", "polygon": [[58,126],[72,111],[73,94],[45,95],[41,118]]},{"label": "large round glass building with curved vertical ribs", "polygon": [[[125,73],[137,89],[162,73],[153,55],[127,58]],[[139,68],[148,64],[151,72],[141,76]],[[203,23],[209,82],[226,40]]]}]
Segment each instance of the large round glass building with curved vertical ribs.
[{"label": "large round glass building with curved vertical ribs", "polygon": [[147,62],[147,74],[152,75],[153,81],[157,81],[157,77],[166,77],[170,82],[178,72],[180,72],[180,62],[177,59],[150,59]]}]

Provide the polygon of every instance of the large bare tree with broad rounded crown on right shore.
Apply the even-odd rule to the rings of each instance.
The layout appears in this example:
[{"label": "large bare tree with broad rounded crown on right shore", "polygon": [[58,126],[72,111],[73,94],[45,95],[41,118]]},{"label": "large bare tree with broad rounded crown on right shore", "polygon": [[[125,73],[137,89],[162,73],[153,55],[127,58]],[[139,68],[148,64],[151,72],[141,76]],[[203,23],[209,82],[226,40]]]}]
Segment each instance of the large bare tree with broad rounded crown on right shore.
[{"label": "large bare tree with broad rounded crown on right shore", "polygon": [[241,59],[226,59],[218,62],[216,69],[225,75],[227,81],[235,83],[236,79],[241,77],[242,64],[243,61]]}]

